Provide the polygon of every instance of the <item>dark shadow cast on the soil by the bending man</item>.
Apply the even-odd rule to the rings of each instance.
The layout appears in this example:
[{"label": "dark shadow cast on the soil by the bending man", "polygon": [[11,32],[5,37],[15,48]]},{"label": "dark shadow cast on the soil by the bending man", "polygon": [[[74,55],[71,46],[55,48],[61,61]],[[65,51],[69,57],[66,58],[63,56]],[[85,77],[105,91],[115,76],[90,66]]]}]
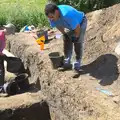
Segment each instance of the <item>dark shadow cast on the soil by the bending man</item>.
[{"label": "dark shadow cast on the soil by the bending man", "polygon": [[115,55],[101,55],[92,63],[83,65],[81,67],[82,71],[76,74],[73,78],[89,73],[90,76],[99,79],[101,85],[111,85],[119,76],[117,61],[118,58]]}]

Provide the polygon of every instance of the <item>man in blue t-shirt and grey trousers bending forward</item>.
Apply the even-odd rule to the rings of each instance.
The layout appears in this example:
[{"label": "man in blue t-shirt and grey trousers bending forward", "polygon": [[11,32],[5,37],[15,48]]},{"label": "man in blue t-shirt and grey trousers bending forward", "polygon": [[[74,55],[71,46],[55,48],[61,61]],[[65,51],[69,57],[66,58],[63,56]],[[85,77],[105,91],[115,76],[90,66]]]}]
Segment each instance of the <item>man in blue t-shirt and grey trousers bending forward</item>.
[{"label": "man in blue t-shirt and grey trousers bending forward", "polygon": [[50,25],[56,27],[63,34],[65,56],[63,68],[70,68],[74,45],[76,61],[73,63],[73,68],[79,71],[87,27],[85,13],[69,5],[57,6],[54,3],[49,3],[45,6],[45,14],[49,19]]}]

